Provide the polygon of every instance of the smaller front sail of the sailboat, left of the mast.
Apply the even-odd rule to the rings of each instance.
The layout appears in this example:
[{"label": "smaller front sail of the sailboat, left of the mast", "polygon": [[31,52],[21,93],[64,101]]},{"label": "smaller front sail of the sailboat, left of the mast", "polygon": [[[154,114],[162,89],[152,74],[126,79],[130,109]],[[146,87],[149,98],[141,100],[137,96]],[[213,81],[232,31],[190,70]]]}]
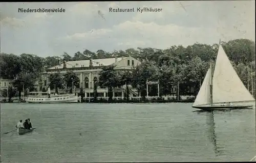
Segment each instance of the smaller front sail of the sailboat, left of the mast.
[{"label": "smaller front sail of the sailboat, left of the mast", "polygon": [[210,104],[211,71],[208,69],[193,106]]}]

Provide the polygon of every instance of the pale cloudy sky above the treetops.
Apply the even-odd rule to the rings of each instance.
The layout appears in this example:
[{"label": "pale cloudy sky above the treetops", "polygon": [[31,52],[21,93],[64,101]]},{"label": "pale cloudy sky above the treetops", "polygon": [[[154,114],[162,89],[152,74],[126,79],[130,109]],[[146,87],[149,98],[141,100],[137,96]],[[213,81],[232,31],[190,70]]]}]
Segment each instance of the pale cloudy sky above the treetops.
[{"label": "pale cloudy sky above the treetops", "polygon": [[[137,8],[161,12],[137,12]],[[65,9],[21,13],[24,9]],[[110,12],[109,8],[135,8]],[[73,56],[88,49],[167,49],[172,45],[255,41],[255,1],[29,2],[0,3],[1,53]]]}]

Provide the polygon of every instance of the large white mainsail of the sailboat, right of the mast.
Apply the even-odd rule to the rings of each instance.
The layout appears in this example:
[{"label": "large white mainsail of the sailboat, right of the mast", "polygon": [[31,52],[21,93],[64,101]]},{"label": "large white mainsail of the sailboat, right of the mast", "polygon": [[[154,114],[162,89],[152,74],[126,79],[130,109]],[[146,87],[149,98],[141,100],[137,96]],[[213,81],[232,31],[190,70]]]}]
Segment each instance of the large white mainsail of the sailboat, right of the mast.
[{"label": "large white mainsail of the sailboat, right of the mast", "polygon": [[216,59],[212,85],[212,103],[255,100],[234,70],[221,45]]}]

